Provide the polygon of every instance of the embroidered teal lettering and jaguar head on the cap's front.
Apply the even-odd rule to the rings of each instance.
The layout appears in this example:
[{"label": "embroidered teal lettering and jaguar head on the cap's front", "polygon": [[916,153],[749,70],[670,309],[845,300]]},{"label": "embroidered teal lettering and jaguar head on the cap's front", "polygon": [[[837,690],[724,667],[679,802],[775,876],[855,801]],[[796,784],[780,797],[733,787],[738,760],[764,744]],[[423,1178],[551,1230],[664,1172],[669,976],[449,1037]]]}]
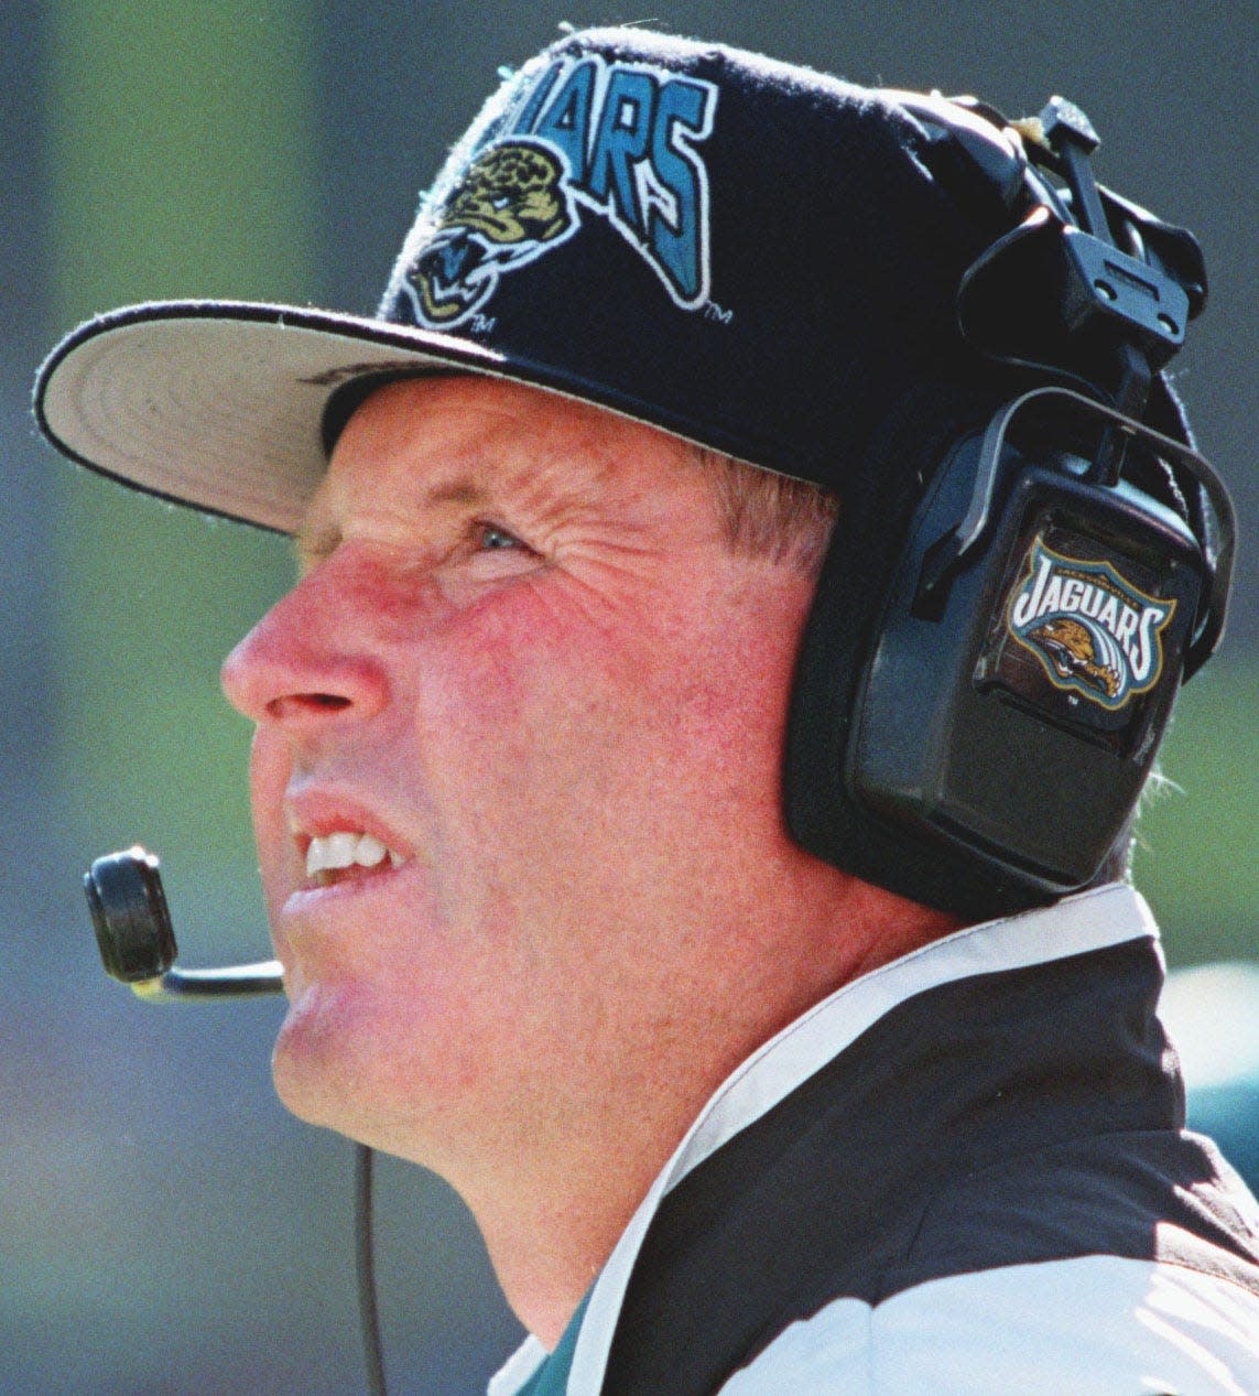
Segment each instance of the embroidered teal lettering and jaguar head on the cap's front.
[{"label": "embroidered teal lettering and jaguar head on the cap's front", "polygon": [[606,219],[673,302],[709,295],[708,169],[717,88],[602,54],[557,59],[519,84],[454,181],[403,281],[416,320],[465,324],[504,275],[563,246],[582,209]]}]

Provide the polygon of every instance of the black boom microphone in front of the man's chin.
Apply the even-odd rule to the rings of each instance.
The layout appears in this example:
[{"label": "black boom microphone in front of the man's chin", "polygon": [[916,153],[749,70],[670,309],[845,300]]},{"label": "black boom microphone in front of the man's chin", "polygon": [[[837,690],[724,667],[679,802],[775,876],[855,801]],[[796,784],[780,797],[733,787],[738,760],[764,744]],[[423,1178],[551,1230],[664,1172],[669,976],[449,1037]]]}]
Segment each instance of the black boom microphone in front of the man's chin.
[{"label": "black boom microphone in front of the man's chin", "polygon": [[279,994],[279,960],[179,969],[158,857],[135,845],[96,859],[84,877],[105,972],[151,1002]]}]

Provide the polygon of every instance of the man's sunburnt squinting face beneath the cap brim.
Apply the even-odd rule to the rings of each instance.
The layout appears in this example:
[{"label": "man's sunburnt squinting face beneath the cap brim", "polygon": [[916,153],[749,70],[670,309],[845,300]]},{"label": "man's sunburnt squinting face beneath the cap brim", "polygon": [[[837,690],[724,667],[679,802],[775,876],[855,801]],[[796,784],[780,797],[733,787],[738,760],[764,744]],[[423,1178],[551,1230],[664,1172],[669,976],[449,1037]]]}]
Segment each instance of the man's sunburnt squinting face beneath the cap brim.
[{"label": "man's sunburnt squinting face beneath the cap brim", "polygon": [[571,1142],[752,955],[811,582],[731,554],[680,443],[472,377],[356,412],[299,556],[225,666],[279,1093],[448,1177]]}]

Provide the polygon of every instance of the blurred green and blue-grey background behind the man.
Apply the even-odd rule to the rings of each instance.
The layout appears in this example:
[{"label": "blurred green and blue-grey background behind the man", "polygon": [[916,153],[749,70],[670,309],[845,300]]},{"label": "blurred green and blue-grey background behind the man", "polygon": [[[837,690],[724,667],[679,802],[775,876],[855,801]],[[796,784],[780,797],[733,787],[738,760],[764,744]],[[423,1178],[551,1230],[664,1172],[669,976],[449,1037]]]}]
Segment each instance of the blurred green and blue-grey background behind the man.
[{"label": "blurred green and blue-grey background behind the man", "polygon": [[[653,21],[1011,114],[1062,92],[1103,134],[1101,179],[1200,235],[1212,304],[1177,374],[1238,498],[1239,586],[1136,868],[1174,966],[1259,960],[1249,0],[6,6],[0,1392],[362,1389],[349,1149],[274,1101],[278,1009],[141,1008],[100,976],[80,892],[92,857],[142,839],[187,962],[267,952],[248,732],[216,671],[286,549],[61,463],[33,436],[35,366],[134,300],[370,311],[496,68],[560,21]],[[483,1389],[518,1332],[468,1219],[388,1161],[380,1208],[391,1390]]]}]

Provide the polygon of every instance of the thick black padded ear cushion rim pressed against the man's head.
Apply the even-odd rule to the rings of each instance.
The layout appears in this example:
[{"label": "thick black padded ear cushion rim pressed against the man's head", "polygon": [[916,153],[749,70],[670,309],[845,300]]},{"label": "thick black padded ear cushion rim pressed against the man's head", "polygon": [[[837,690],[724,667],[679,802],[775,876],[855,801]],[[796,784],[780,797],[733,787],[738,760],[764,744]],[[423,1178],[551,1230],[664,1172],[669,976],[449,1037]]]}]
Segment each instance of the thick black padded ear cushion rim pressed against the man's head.
[{"label": "thick black padded ear cushion rim pressed against the man's head", "polygon": [[840,498],[818,578],[797,660],[784,764],[787,825],[810,853],[971,921],[1025,910],[1045,896],[978,867],[925,831],[875,815],[847,789],[844,762],[914,510],[955,445],[981,431],[1002,401],[921,384],[875,433],[856,486]]}]

